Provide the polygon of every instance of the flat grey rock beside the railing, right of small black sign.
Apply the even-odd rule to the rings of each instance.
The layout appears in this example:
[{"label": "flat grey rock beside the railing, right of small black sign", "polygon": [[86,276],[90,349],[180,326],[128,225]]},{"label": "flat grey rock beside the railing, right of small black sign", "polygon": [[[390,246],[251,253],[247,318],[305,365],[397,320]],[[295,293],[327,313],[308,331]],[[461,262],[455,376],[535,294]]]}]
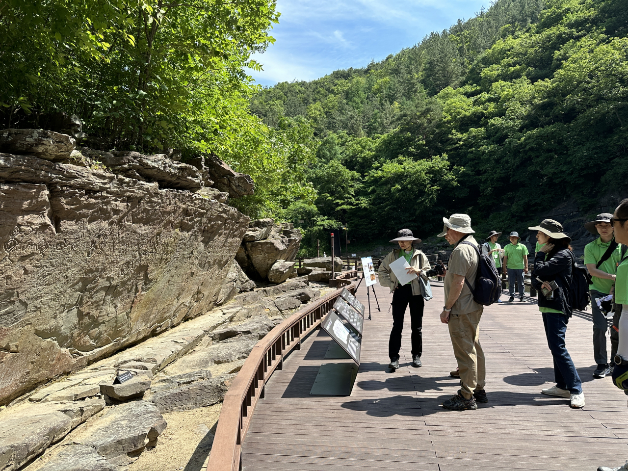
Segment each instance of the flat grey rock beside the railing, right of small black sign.
[{"label": "flat grey rock beside the railing, right of small black sign", "polygon": [[185,386],[155,393],[153,403],[163,413],[171,411],[188,411],[200,407],[211,406],[224,399],[229,386],[237,374],[227,374],[207,381],[193,382]]}]

